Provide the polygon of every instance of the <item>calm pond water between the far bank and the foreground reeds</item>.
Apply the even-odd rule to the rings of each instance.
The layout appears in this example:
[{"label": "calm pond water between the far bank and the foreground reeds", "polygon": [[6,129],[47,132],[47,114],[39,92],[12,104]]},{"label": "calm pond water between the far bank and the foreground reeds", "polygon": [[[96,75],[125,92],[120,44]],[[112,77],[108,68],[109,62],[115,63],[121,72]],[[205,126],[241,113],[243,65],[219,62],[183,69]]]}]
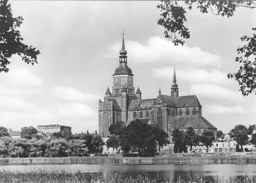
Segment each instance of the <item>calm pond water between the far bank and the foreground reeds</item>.
[{"label": "calm pond water between the far bank and the foreground reeds", "polygon": [[[230,177],[239,178],[239,176],[248,175],[249,178],[256,178],[256,165],[5,165],[0,166],[0,170],[66,170],[72,172],[80,170],[82,172],[102,171],[103,175],[110,171],[116,171],[123,176],[136,177],[138,174],[148,174],[152,178],[161,180],[165,175],[167,179],[177,180],[180,176],[188,181],[190,176],[195,179],[195,175],[206,176],[211,181],[221,181]],[[209,182],[209,181],[207,181]]]}]

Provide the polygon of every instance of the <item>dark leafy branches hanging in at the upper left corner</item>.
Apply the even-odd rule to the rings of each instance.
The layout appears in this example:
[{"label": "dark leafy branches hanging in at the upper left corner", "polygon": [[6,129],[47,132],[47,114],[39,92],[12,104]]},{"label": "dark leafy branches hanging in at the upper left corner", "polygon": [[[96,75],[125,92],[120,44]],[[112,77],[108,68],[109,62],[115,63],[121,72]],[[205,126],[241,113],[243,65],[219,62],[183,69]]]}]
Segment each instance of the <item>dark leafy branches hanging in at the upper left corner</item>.
[{"label": "dark leafy branches hanging in at the upper left corner", "polygon": [[0,0],[0,73],[8,72],[7,65],[12,55],[19,55],[26,63],[37,63],[39,50],[23,43],[18,28],[23,23],[22,16],[13,17],[8,0]]}]

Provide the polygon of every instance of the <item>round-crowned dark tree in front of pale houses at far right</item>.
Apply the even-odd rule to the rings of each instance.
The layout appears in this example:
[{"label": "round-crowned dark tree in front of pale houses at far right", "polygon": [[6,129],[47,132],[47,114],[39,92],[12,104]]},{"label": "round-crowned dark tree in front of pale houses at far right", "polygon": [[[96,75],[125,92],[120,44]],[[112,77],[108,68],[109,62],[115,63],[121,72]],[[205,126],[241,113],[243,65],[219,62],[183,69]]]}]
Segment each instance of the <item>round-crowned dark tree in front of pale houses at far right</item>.
[{"label": "round-crowned dark tree in front of pale houses at far right", "polygon": [[230,136],[241,146],[243,152],[243,146],[248,144],[248,130],[244,125],[236,125],[230,130]]}]

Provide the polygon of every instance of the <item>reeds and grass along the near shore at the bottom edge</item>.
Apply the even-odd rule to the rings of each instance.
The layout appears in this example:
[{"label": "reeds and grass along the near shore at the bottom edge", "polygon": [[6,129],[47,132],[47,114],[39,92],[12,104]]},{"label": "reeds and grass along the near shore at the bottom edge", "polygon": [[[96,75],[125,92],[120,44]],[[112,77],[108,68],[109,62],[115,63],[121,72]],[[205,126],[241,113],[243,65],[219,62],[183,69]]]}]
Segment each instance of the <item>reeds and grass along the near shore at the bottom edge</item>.
[{"label": "reeds and grass along the near shore at the bottom edge", "polygon": [[[94,182],[94,183],[113,183],[113,182],[122,182],[122,183],[137,183],[137,182],[165,182],[165,183],[213,183],[215,180],[209,177],[199,177],[195,178],[188,177],[188,181],[183,181],[180,177],[177,180],[168,180],[167,177],[161,177],[161,180],[156,180],[148,175],[138,175],[137,177],[124,177],[118,173],[110,172],[106,176],[103,176],[102,173],[81,173],[79,171],[73,173],[67,173],[65,171],[55,171],[48,173],[45,171],[31,171],[31,172],[10,172],[10,171],[1,171],[0,172],[0,182],[62,182],[62,183],[79,183],[79,182]],[[255,179],[249,179],[247,177],[230,178],[226,183],[235,183],[235,182],[256,182]]]}]

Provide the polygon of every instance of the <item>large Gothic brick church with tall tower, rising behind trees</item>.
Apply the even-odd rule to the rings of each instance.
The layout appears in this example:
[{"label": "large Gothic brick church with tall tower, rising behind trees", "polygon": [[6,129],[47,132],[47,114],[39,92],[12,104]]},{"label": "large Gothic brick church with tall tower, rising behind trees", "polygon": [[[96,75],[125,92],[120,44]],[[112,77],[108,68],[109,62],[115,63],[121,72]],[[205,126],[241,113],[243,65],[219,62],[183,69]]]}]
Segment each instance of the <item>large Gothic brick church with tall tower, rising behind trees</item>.
[{"label": "large Gothic brick church with tall tower, rising behind trees", "polygon": [[204,129],[211,129],[217,135],[217,128],[202,116],[202,106],[197,96],[179,96],[175,71],[170,95],[161,95],[159,89],[156,98],[141,99],[139,87],[135,93],[134,75],[127,65],[126,54],[123,38],[119,66],[113,74],[112,93],[108,87],[104,101],[99,100],[100,135],[109,136],[108,128],[116,121],[129,124],[134,119],[157,123],[169,136],[174,129],[186,130],[187,127],[193,127],[198,134]]}]

